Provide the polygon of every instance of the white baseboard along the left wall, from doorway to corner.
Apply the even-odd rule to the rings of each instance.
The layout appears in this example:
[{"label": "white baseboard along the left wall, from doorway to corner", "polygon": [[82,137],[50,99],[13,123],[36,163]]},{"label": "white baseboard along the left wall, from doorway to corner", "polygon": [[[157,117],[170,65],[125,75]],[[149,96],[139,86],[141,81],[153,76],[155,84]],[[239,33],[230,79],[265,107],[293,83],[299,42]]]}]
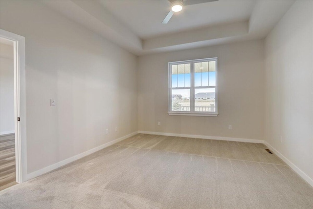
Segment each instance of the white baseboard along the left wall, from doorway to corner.
[{"label": "white baseboard along the left wall, from doorway to corner", "polygon": [[137,131],[135,131],[134,133],[128,134],[128,135],[126,135],[126,136],[124,136],[124,137],[121,137],[121,138],[112,140],[112,141],[110,141],[110,142],[107,142],[107,143],[105,143],[105,144],[102,144],[102,145],[100,145],[100,146],[97,146],[97,147],[95,147],[95,148],[89,149],[89,150],[86,151],[86,152],[83,152],[83,153],[80,153],[80,154],[75,155],[75,156],[73,156],[73,157],[67,158],[66,160],[60,161],[60,162],[58,162],[58,163],[54,163],[54,164],[49,165],[49,166],[47,166],[47,167],[44,167],[44,168],[42,168],[42,169],[40,169],[40,170],[36,170],[36,171],[34,171],[34,172],[32,172],[32,173],[27,174],[27,179],[26,179],[26,181],[28,181],[28,180],[30,180],[30,179],[33,179],[33,178],[36,178],[36,177],[38,177],[38,176],[40,176],[40,175],[43,175],[43,174],[45,174],[45,173],[47,173],[47,172],[50,172],[50,171],[52,171],[52,170],[54,170],[54,169],[57,169],[57,168],[59,168],[59,167],[61,167],[61,166],[63,166],[63,165],[66,165],[66,164],[68,164],[68,163],[71,163],[71,162],[73,162],[73,161],[76,161],[76,160],[78,160],[78,159],[80,159],[80,158],[83,158],[83,157],[85,157],[85,156],[88,156],[88,155],[90,155],[90,154],[92,154],[92,153],[94,153],[94,152],[97,152],[97,151],[99,151],[99,150],[101,150],[101,149],[104,149],[104,148],[106,148],[106,147],[108,147],[108,146],[111,146],[112,144],[115,144],[115,143],[117,143],[117,142],[119,142],[119,141],[121,141],[121,140],[124,140],[124,139],[127,139],[127,138],[129,138],[129,137],[132,137],[132,136],[134,136],[134,135],[136,135],[136,134],[138,134]]}]

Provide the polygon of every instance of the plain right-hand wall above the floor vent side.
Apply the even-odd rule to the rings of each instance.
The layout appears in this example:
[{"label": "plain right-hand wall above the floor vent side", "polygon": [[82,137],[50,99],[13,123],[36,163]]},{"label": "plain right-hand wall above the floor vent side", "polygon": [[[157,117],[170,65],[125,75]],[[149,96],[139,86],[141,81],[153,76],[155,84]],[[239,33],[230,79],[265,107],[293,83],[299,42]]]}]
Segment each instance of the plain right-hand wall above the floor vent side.
[{"label": "plain right-hand wall above the floor vent side", "polygon": [[296,1],[265,42],[265,140],[313,184],[313,1]]}]

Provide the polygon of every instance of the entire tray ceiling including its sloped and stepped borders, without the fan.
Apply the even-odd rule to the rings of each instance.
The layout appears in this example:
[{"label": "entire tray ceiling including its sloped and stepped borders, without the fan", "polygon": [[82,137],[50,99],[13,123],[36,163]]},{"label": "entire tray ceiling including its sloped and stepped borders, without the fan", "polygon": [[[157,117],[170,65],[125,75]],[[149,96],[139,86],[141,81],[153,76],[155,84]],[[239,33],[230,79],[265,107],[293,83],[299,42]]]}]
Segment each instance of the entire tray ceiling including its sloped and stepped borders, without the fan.
[{"label": "entire tray ceiling including its sloped and stepped borders, without the fan", "polygon": [[265,38],[294,0],[218,0],[184,6],[167,24],[168,0],[42,1],[136,55]]}]

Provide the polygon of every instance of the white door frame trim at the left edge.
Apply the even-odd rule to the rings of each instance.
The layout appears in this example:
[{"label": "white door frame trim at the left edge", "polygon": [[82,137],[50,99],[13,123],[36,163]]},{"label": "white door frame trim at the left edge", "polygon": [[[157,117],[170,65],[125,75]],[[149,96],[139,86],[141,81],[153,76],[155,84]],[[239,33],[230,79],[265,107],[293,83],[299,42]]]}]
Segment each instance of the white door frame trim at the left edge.
[{"label": "white door frame trim at the left edge", "polygon": [[[25,37],[2,29],[0,29],[0,37],[14,43],[13,62],[16,182],[22,183],[27,181]],[[18,118],[21,120],[18,121]]]}]

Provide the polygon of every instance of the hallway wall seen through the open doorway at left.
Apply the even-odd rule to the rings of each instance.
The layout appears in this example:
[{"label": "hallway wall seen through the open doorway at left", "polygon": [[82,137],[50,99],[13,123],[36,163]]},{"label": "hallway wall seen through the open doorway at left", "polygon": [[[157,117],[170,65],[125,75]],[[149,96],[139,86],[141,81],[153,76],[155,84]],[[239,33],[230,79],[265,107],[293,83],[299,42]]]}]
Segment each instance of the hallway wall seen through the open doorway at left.
[{"label": "hallway wall seen through the open doorway at left", "polygon": [[14,133],[13,46],[0,43],[0,135]]}]

